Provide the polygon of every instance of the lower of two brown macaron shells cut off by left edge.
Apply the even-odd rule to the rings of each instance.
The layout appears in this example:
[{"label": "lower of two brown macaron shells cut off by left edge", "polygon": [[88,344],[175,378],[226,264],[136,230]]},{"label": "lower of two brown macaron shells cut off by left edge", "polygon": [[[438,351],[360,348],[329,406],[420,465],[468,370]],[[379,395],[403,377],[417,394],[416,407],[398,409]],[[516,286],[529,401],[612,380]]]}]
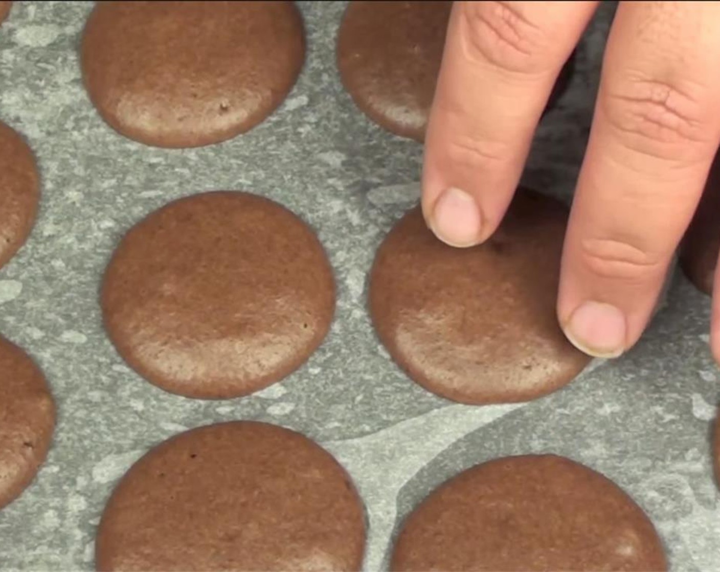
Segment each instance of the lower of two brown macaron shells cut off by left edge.
[{"label": "lower of two brown macaron shells cut off by left edge", "polygon": [[35,478],[54,428],[45,377],[23,350],[0,337],[0,509]]}]

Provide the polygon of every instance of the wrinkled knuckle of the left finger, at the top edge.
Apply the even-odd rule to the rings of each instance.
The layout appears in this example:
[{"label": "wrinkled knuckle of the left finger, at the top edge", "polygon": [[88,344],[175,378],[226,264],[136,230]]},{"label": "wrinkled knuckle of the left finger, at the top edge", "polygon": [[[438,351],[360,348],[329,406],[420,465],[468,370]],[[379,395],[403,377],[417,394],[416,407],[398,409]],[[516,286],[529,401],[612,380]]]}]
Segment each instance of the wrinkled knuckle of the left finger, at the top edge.
[{"label": "wrinkled knuckle of the left finger, at the top edge", "polygon": [[529,73],[535,71],[541,31],[505,1],[462,3],[464,51],[471,61]]}]

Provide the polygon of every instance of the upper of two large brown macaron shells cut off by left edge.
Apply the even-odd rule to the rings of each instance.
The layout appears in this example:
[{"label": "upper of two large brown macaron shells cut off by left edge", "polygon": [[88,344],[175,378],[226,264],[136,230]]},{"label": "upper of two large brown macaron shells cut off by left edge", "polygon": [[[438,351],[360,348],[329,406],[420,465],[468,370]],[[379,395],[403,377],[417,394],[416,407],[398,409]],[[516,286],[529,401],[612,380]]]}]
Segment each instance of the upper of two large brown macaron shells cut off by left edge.
[{"label": "upper of two large brown macaron shells cut off by left edge", "polygon": [[0,268],[30,235],[39,201],[35,157],[22,137],[0,122]]}]

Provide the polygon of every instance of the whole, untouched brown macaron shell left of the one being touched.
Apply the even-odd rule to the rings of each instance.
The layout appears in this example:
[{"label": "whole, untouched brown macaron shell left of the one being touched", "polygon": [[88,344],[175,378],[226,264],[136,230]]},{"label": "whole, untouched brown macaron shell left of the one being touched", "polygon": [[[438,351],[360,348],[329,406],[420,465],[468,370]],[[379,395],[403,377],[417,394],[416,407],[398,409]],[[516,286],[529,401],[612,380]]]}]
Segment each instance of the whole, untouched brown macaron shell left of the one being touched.
[{"label": "whole, untouched brown macaron shell left of the one being touched", "polygon": [[102,284],[105,327],[127,363],[166,391],[243,396],[318,348],[335,311],[314,232],[283,206],[217,191],[135,225]]}]

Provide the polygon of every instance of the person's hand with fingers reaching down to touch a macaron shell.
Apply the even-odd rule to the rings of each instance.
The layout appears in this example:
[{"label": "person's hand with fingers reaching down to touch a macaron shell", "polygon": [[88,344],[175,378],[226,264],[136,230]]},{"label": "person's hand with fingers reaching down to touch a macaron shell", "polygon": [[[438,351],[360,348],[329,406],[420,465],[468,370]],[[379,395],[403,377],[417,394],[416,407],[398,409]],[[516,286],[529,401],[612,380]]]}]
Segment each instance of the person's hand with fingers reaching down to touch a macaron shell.
[{"label": "person's hand with fingers reaching down to touch a macaron shell", "polygon": [[[426,134],[423,213],[469,247],[498,227],[595,1],[457,1]],[[565,237],[557,315],[598,357],[631,348],[720,142],[720,2],[621,2]],[[720,299],[720,279],[715,281]],[[720,303],[711,345],[720,358]]]}]

